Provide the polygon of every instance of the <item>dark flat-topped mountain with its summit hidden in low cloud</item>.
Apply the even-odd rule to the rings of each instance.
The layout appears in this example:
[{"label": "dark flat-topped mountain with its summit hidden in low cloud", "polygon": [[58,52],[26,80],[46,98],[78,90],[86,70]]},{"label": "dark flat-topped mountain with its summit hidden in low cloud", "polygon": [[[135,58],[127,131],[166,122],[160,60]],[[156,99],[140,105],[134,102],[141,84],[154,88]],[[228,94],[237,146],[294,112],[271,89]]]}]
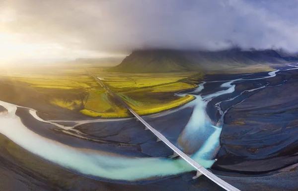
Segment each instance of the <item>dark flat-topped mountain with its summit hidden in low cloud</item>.
[{"label": "dark flat-topped mountain with its summit hidden in low cloud", "polygon": [[145,73],[177,71],[214,71],[255,64],[278,64],[298,61],[298,56],[278,50],[243,51],[239,48],[222,51],[137,50],[111,72]]}]

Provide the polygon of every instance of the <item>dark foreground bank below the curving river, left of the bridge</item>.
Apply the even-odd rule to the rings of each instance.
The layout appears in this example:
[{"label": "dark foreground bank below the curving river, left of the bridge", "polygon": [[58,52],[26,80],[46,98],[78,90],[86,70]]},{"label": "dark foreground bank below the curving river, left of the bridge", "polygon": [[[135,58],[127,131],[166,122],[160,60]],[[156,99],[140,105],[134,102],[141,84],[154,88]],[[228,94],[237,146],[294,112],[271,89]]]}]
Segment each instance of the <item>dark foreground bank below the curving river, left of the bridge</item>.
[{"label": "dark foreground bank below the curving river, left of the bridge", "polygon": [[0,135],[0,190],[3,191],[223,191],[195,172],[138,184],[116,184],[79,176],[44,161]]}]

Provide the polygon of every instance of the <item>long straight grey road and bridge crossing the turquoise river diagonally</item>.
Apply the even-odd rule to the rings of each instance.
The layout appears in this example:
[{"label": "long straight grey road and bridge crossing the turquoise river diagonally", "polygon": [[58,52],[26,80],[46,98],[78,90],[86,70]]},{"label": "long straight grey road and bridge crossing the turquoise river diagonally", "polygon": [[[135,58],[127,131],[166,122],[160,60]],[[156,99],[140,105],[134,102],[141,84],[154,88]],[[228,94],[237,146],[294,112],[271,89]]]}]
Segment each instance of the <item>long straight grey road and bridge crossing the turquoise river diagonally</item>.
[{"label": "long straight grey road and bridge crossing the turquoise river diagonally", "polygon": [[162,141],[166,145],[168,145],[173,151],[174,156],[180,156],[183,158],[186,162],[188,162],[190,165],[192,165],[195,169],[197,169],[197,175],[194,177],[194,179],[200,177],[201,175],[205,175],[210,180],[212,180],[214,183],[225,189],[226,191],[239,191],[237,188],[231,186],[230,184],[226,183],[224,180],[220,179],[216,175],[214,175],[209,170],[205,169],[203,166],[199,165],[196,161],[191,159],[189,156],[187,156],[184,152],[182,152],[179,148],[177,148],[174,144],[170,143],[169,140],[167,140],[161,133],[156,131],[153,127],[151,127],[142,117],[140,117],[126,102],[122,100],[122,98],[118,95],[116,95],[114,92],[112,92],[109,88],[107,88],[94,74],[90,72],[91,76],[95,78],[95,80],[103,87],[105,88],[111,95],[115,96],[138,120],[140,120],[146,127],[146,130],[150,130],[156,137],[157,141]]}]

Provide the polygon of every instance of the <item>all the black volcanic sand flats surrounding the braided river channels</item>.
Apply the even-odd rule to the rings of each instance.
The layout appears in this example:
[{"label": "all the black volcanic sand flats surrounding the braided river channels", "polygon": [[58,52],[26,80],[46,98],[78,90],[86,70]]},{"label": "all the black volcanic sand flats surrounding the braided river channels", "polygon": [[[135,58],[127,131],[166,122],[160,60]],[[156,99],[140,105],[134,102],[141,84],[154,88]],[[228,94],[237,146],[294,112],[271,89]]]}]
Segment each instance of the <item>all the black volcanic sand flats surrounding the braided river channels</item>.
[{"label": "all the black volcanic sand flats surrounding the braided river channels", "polygon": [[[216,81],[263,77],[267,74],[268,72],[250,75],[208,75],[207,77],[208,81]],[[224,90],[219,87],[222,83],[208,83],[200,94],[204,96]],[[267,84],[271,87],[247,92],[232,101],[221,103],[223,109],[239,104],[230,108],[224,117],[220,138],[221,148],[212,170],[216,174],[223,175],[222,179],[240,190],[264,190],[264,188],[277,191],[297,190],[297,167],[290,165],[298,162],[296,154],[298,152],[296,136],[298,133],[296,128],[298,126],[298,95],[296,94],[298,70],[283,71],[273,78],[238,81],[234,84],[236,84],[234,93],[216,97],[207,105],[207,112],[212,121],[216,122],[220,117],[214,107],[215,103],[234,97],[245,90]],[[241,102],[242,100],[244,101]],[[54,112],[51,115],[39,112],[38,115],[52,120],[64,118],[64,115],[60,115],[64,111],[58,108],[57,110],[49,108],[49,110]],[[177,145],[177,139],[191,113],[192,108],[185,108],[162,117],[144,118]],[[137,157],[172,154],[171,149],[164,143],[156,142],[155,136],[150,131],[145,131],[145,127],[135,119],[83,124],[75,128],[82,133],[80,135],[74,131],[66,131],[52,124],[37,121],[25,108],[18,108],[16,114],[31,131],[77,148],[91,148]],[[75,115],[65,120],[67,119],[77,120]],[[76,137],[78,135],[83,138]],[[284,167],[287,168],[278,170]],[[119,181],[110,183],[108,180],[93,180],[46,162],[2,135],[0,135],[0,168],[0,188],[3,190],[222,190],[205,176],[200,177],[199,180],[192,180],[195,172],[158,181],[146,180],[133,185],[118,184]]]}]

